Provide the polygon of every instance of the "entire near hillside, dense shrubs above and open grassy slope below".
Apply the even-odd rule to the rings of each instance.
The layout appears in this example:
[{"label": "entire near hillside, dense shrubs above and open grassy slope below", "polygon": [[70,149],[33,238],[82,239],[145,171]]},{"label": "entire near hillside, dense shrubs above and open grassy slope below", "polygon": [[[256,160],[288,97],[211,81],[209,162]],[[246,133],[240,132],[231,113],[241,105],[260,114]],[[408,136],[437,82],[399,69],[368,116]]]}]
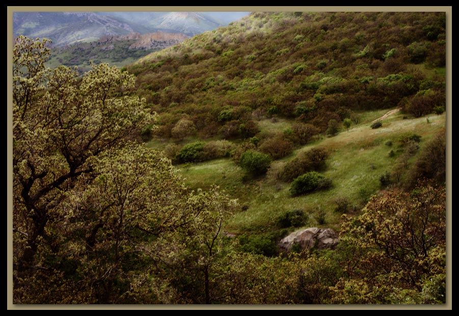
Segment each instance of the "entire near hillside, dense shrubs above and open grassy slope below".
[{"label": "entire near hillside, dense shrubs above and open grassy slope below", "polygon": [[[415,182],[416,160],[445,126],[444,66],[444,13],[257,12],[126,69],[160,117],[144,130],[149,146],[192,188],[217,183],[241,201],[228,231],[273,245],[288,212],[339,230],[343,201],[358,214],[389,182]],[[316,170],[332,189],[292,197],[300,174],[286,176],[288,164],[313,148],[327,152]],[[246,151],[269,157],[261,176],[241,168]]]}]

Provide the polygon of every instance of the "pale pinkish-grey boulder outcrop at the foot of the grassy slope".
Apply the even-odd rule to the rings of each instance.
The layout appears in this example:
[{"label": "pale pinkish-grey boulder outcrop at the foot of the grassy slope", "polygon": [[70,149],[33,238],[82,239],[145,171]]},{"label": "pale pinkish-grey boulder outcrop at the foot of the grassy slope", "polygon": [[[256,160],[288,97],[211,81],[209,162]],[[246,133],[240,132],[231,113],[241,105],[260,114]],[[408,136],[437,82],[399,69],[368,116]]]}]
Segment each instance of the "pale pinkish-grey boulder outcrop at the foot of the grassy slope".
[{"label": "pale pinkish-grey boulder outcrop at the foot of the grassy slope", "polygon": [[294,244],[300,244],[302,249],[333,249],[338,244],[338,234],[331,228],[307,228],[295,231],[279,242],[279,247],[290,251]]}]

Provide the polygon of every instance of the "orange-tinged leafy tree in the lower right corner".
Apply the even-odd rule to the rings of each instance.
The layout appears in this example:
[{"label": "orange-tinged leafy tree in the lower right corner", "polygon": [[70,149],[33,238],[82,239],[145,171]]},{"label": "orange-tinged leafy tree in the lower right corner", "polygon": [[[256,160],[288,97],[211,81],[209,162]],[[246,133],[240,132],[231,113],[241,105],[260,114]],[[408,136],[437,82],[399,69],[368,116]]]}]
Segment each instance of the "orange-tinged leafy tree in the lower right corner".
[{"label": "orange-tinged leafy tree in the lower right corner", "polygon": [[[346,218],[340,244],[352,248],[348,251],[356,257],[348,259],[353,264],[344,270],[350,280],[338,282],[332,302],[444,303],[441,280],[445,279],[446,269],[445,191],[444,187],[421,182],[411,192],[375,196],[362,215]],[[439,295],[429,297],[427,292],[431,292],[426,287],[437,287],[435,293]],[[362,291],[352,293],[345,288]],[[409,300],[402,297],[403,293]],[[368,301],[360,301],[365,297]]]}]

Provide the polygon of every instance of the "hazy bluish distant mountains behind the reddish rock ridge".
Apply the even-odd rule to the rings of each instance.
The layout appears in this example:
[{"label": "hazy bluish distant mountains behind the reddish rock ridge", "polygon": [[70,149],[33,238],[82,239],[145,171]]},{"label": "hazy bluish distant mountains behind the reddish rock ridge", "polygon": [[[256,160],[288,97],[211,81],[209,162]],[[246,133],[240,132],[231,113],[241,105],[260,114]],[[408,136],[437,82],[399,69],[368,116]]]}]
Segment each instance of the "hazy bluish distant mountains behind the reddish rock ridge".
[{"label": "hazy bluish distant mountains behind the reddish rock ridge", "polygon": [[163,31],[193,36],[222,27],[247,14],[214,13],[217,12],[14,12],[13,35],[49,38],[55,46],[91,42],[102,36],[131,32]]}]

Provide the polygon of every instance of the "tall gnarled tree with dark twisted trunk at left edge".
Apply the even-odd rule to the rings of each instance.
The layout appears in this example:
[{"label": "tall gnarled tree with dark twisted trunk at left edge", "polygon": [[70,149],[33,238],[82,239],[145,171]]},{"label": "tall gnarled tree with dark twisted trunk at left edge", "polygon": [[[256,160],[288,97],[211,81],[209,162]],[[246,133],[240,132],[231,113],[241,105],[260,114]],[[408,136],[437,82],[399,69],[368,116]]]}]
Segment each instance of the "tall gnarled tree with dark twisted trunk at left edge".
[{"label": "tall gnarled tree with dark twisted trunk at left edge", "polygon": [[[87,161],[155,121],[145,100],[131,95],[134,78],[116,67],[93,65],[82,80],[74,69],[47,69],[48,40],[20,36],[13,48],[13,182],[15,266],[34,266],[59,217],[62,192]],[[20,240],[20,241],[19,241]]]}]

